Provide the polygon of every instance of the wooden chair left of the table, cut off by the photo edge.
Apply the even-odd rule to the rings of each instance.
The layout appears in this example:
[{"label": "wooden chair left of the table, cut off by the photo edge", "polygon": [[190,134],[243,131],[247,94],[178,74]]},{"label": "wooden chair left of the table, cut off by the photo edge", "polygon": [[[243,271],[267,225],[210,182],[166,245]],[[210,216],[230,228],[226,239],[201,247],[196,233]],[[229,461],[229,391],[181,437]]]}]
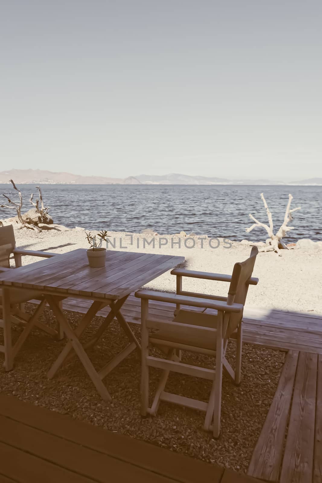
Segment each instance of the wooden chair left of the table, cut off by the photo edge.
[{"label": "wooden chair left of the table, cut off by the photo edge", "polygon": [[[0,272],[7,270],[14,270],[10,267],[10,256],[14,255],[15,267],[21,267],[21,256],[41,256],[44,258],[49,258],[55,256],[55,253],[49,252],[37,252],[34,250],[23,250],[21,248],[16,248],[14,239],[14,228],[9,225],[7,227],[0,227]],[[6,370],[13,369],[14,355],[20,349],[24,341],[26,340],[30,330],[33,326],[37,326],[44,332],[49,333],[55,337],[61,339],[63,337],[62,331],[57,329],[54,330],[51,327],[47,327],[41,322],[34,321],[34,319],[29,320],[29,316],[24,312],[23,304],[31,299],[39,299],[39,293],[33,292],[32,290],[10,290],[10,307],[6,307],[5,302],[2,300],[2,290],[0,288],[0,312],[2,314],[7,311],[10,313],[11,322],[16,325],[26,326],[25,330],[20,335],[18,341],[12,346],[11,340],[11,327],[5,326],[3,319],[0,319],[0,327],[4,331],[4,345],[0,345],[0,352],[4,352],[4,367]],[[44,308],[44,302],[41,303],[37,309],[37,317],[40,315]],[[36,319],[36,317],[35,317]]]}]

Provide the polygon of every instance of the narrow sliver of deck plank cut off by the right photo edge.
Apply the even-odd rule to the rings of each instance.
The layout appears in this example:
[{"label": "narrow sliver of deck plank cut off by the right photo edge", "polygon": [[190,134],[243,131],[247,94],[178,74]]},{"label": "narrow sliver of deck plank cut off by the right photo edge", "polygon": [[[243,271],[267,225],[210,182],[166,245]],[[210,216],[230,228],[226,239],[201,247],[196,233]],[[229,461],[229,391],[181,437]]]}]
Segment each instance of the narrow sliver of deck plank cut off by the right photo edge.
[{"label": "narrow sliver of deck plank cut off by the right photo edge", "polygon": [[322,483],[322,355],[318,360],[313,483]]}]

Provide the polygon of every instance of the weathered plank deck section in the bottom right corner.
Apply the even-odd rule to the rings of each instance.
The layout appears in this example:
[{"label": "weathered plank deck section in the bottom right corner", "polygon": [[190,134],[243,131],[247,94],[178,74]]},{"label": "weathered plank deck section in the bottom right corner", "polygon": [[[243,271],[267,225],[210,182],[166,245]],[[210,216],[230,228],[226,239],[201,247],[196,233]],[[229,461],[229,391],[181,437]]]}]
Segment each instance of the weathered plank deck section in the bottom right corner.
[{"label": "weathered plank deck section in the bottom right corner", "polygon": [[248,474],[322,483],[322,356],[290,351]]}]

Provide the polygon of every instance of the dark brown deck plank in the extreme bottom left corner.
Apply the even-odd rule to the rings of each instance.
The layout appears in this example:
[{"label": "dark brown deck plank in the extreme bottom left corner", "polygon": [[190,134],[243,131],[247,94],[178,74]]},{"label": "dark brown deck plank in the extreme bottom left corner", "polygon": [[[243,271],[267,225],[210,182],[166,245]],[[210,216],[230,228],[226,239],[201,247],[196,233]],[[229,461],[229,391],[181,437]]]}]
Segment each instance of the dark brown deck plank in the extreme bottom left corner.
[{"label": "dark brown deck plank in the extreme bottom left corner", "polygon": [[1,442],[0,461],[1,473],[19,483],[95,482]]}]

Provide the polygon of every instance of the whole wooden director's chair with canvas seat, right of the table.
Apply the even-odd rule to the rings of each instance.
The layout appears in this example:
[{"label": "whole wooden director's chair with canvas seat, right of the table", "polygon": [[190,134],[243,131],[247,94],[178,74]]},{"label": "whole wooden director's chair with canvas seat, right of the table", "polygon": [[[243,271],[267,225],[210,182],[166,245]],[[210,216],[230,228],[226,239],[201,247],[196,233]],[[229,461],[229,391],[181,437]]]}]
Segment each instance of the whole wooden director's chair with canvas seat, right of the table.
[{"label": "whole wooden director's chair with canvas seat, right of the table", "polygon": [[[249,285],[256,285],[252,271],[258,250],[252,248],[250,257],[236,263],[232,275],[204,273],[174,269],[177,276],[177,294],[139,290],[135,296],[141,298],[141,414],[155,415],[160,401],[173,402],[206,412],[204,428],[212,430],[214,438],[220,434],[222,373],[226,369],[236,384],[240,383],[242,315]],[[228,297],[210,296],[182,291],[182,277],[195,277],[229,282]],[[149,300],[177,304],[172,322],[149,317]],[[181,304],[188,307],[182,309]],[[154,329],[150,333],[148,329]],[[156,329],[156,330],[155,330]],[[237,340],[236,368],[225,358],[229,338]],[[167,357],[149,355],[149,343],[167,349]],[[196,367],[183,363],[181,351],[191,351],[215,356],[215,369]],[[163,369],[154,400],[149,408],[149,367]],[[212,381],[208,403],[166,392],[165,386],[170,371],[202,377]]]}]

